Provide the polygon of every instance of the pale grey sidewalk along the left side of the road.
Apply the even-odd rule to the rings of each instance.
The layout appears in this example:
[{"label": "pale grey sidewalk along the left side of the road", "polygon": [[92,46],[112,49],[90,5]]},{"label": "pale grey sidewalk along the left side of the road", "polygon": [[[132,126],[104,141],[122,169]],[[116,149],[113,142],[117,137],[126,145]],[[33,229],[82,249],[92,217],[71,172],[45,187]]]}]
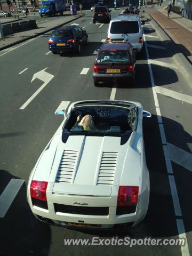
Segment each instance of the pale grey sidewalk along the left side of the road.
[{"label": "pale grey sidewalk along the left side of the road", "polygon": [[[42,35],[48,31],[53,30],[55,27],[65,25],[68,22],[81,18],[83,15],[85,14],[77,14],[75,16],[68,14],[66,16],[63,16],[60,19],[54,19],[54,20],[52,19],[50,21],[45,21],[41,23],[37,22],[37,26],[38,26],[37,29],[31,29],[31,30],[15,33],[12,35],[7,35],[4,38],[0,38],[0,51],[6,49],[7,47],[11,47],[15,44],[27,41],[30,38],[36,37],[38,35]],[[13,19],[13,21],[16,21],[16,19]]]}]

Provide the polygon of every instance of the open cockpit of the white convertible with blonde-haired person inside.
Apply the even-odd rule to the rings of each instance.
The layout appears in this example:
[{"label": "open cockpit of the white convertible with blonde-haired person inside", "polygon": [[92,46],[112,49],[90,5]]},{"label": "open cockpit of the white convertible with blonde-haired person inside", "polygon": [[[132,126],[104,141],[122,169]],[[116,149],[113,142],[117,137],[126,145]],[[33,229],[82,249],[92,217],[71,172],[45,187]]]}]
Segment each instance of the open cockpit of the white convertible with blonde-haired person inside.
[{"label": "open cockpit of the white convertible with blonde-haired person inside", "polygon": [[[114,136],[121,137],[127,131],[133,131],[132,111],[126,108],[79,108],[72,110],[63,127],[70,135]],[[134,122],[136,123],[137,108]]]}]

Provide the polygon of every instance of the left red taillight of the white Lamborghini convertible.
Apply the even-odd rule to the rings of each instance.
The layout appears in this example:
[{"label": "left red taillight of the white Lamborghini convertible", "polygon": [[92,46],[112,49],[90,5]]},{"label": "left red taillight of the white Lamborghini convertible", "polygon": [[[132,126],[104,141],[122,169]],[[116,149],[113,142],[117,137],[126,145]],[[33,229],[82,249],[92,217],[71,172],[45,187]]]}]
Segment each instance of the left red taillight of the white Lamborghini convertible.
[{"label": "left red taillight of the white Lamborghini convertible", "polygon": [[46,199],[47,181],[32,180],[30,185],[30,196],[42,201]]}]

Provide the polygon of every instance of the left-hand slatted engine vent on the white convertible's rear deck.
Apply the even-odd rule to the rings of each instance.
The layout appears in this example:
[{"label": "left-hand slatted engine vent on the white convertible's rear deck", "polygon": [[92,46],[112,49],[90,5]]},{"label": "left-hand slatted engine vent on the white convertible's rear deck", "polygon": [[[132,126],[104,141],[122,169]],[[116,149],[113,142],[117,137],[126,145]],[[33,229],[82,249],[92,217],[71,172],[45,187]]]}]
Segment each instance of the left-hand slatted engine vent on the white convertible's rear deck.
[{"label": "left-hand slatted engine vent on the white convertible's rear deck", "polygon": [[77,153],[78,151],[74,150],[64,150],[59,165],[56,182],[71,182],[75,169]]}]

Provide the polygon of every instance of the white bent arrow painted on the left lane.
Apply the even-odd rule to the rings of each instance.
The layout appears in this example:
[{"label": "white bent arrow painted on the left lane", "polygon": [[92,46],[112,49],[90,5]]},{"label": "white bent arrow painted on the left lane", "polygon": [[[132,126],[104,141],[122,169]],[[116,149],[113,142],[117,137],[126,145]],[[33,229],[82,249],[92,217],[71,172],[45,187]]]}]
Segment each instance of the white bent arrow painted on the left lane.
[{"label": "white bent arrow painted on the left lane", "polygon": [[44,84],[39,87],[39,89],[20,107],[20,109],[25,109],[27,107],[27,105],[37,96],[37,94],[39,92],[41,92],[43,90],[43,88],[51,81],[51,79],[54,77],[53,75],[45,72],[47,68],[38,71],[37,73],[35,73],[33,75],[33,78],[31,79],[31,82],[33,82],[36,78],[38,78],[39,80],[43,81]]}]

